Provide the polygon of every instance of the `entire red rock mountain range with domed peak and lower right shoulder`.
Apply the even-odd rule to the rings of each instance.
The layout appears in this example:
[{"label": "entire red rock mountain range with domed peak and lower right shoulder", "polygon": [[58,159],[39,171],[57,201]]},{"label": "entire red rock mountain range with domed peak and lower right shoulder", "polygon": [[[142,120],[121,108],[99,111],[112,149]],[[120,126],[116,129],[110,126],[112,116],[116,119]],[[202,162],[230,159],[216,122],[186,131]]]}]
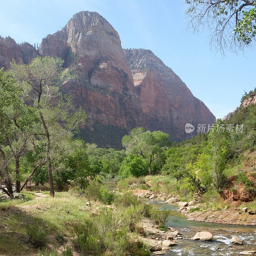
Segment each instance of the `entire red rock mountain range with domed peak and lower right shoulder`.
[{"label": "entire red rock mountain range with domed peak and lower right shoulder", "polygon": [[30,44],[0,38],[0,67],[12,59],[28,63],[38,54],[64,59],[74,77],[62,90],[89,115],[85,140],[120,148],[134,127],[162,130],[184,140],[186,123],[212,124],[215,117],[180,78],[149,50],[123,50],[116,30],[97,12],[76,13],[67,25],[43,38],[39,52]]}]

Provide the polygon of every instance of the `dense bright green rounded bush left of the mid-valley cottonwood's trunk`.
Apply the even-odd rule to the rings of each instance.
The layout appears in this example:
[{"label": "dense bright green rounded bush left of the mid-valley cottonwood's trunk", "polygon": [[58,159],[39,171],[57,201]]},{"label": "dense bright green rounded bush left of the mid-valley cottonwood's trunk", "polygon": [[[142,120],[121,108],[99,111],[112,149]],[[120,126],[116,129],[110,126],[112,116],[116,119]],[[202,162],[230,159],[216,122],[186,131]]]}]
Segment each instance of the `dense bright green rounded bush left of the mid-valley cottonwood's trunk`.
[{"label": "dense bright green rounded bush left of the mid-valley cottonwood's trunk", "polygon": [[128,178],[130,176],[145,176],[147,173],[147,163],[143,158],[140,158],[136,155],[128,155],[125,157],[118,172],[119,176],[122,178]]}]

